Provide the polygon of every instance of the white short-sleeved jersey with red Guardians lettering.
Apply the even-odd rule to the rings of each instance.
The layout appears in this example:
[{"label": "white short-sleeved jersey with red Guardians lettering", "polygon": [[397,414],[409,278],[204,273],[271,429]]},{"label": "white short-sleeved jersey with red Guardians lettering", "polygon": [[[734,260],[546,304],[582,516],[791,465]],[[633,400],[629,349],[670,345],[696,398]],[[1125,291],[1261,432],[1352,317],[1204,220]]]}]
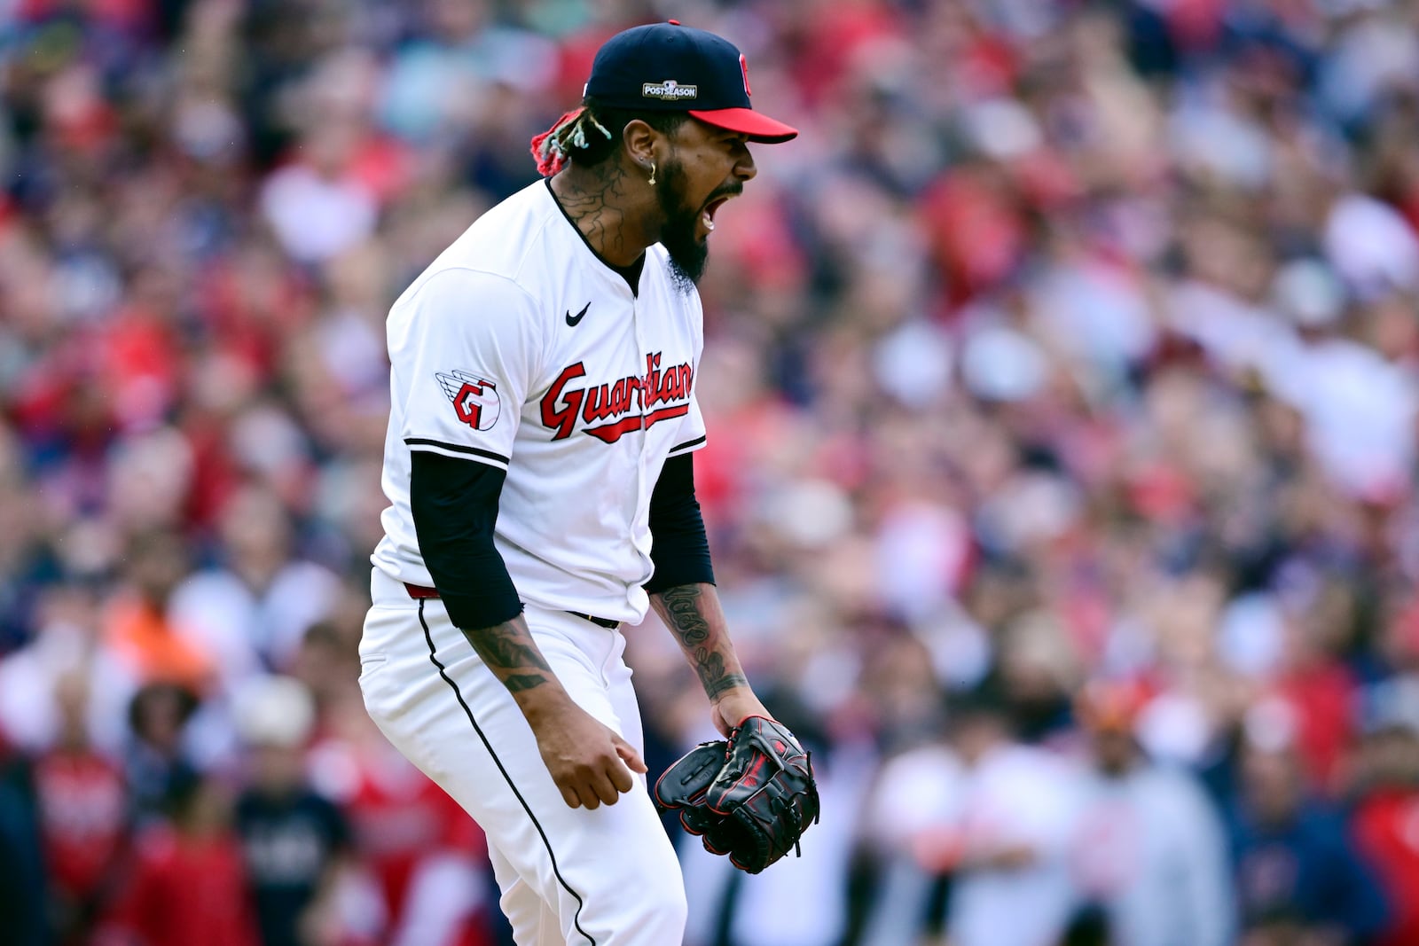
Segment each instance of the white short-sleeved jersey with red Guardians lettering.
[{"label": "white short-sleeved jersey with red Guardians lettering", "polygon": [[387,335],[375,566],[433,584],[409,506],[410,452],[427,450],[507,471],[495,546],[524,601],[639,623],[651,491],[668,457],[705,443],[700,296],[664,248],[646,251],[633,294],[538,182],[414,279]]}]

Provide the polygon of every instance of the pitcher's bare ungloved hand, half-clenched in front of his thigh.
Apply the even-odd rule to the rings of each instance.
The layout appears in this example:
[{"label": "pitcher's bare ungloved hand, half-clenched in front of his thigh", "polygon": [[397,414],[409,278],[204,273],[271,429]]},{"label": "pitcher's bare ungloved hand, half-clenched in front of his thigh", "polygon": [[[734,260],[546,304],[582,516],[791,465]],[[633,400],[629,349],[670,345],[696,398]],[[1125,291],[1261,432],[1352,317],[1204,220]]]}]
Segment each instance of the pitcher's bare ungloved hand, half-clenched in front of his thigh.
[{"label": "pitcher's bare ungloved hand, half-clenched in front of his thigh", "polygon": [[528,722],[552,781],[572,808],[616,804],[623,791],[636,786],[630,773],[646,773],[646,763],[629,742],[565,694],[555,705],[529,712]]}]

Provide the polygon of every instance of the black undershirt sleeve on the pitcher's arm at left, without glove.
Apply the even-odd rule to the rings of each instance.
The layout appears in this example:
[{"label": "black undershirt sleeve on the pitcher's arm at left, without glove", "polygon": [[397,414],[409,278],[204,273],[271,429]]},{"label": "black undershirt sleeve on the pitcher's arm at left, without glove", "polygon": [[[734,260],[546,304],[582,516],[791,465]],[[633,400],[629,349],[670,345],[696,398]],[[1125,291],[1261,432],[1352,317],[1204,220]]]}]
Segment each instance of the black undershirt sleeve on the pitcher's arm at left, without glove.
[{"label": "black undershirt sleeve on the pitcher's arm at left, without glove", "polygon": [[409,506],[419,550],[455,627],[477,630],[522,613],[508,566],[492,545],[507,472],[416,450]]}]

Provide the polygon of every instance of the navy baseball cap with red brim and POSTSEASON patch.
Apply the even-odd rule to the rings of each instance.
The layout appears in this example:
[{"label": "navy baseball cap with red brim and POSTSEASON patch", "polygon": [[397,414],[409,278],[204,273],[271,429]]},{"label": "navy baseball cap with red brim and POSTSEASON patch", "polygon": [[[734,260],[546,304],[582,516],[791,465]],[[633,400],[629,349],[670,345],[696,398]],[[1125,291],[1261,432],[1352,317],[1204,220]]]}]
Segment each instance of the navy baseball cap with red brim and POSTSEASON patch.
[{"label": "navy baseball cap with red brim and POSTSEASON patch", "polygon": [[678,20],[617,33],[596,52],[586,95],[612,108],[688,112],[707,125],[776,145],[797,129],[753,111],[744,54]]}]

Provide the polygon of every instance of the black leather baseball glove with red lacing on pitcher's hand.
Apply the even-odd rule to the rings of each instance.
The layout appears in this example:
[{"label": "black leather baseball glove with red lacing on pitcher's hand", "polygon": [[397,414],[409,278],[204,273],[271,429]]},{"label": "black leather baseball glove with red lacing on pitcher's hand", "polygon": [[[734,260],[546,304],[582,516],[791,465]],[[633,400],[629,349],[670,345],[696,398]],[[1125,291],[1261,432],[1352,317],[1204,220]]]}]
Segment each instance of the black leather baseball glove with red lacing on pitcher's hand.
[{"label": "black leather baseball glove with red lacing on pitcher's hand", "polygon": [[[702,742],[656,781],[656,804],[680,811],[711,854],[758,874],[817,821],[813,762],[783,723],[749,716],[729,740]],[[799,851],[802,854],[802,851]]]}]

